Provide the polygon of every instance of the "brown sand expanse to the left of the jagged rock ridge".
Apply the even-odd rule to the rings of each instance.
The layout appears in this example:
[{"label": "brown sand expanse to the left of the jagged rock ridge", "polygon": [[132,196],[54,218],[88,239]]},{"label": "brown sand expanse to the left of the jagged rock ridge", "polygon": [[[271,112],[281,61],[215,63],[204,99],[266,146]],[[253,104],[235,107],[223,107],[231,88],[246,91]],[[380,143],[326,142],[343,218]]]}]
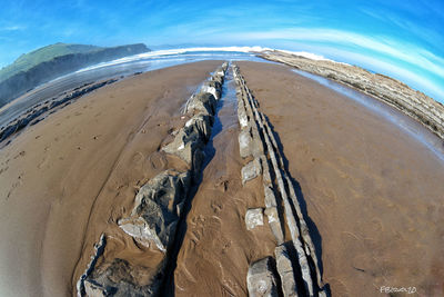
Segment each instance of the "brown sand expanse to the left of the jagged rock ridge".
[{"label": "brown sand expanse to the left of the jagged rock ridge", "polygon": [[[125,199],[132,201],[138,181],[160,170],[164,159],[145,156],[220,63],[161,69],[107,86],[0,151],[1,295],[74,291],[82,248],[92,249],[103,227],[124,211]],[[85,264],[80,265],[83,271]]]}]

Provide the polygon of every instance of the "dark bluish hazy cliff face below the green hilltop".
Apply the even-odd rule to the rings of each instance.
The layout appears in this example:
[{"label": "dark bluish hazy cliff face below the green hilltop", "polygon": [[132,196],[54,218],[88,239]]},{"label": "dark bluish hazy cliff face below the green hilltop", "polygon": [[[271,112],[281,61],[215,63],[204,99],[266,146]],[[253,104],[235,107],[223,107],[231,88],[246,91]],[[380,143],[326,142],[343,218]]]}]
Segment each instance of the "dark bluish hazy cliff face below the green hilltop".
[{"label": "dark bluish hazy cliff face below the green hilltop", "polygon": [[41,62],[0,82],[0,107],[43,82],[81,68],[150,51],[145,44],[101,48],[91,52],[69,53]]}]

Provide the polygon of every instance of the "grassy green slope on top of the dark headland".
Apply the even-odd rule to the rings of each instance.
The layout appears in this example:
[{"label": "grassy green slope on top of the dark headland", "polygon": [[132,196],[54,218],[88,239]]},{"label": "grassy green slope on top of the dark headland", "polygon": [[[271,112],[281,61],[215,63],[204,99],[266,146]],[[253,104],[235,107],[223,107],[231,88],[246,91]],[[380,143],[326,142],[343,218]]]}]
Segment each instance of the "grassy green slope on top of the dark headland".
[{"label": "grassy green slope on top of the dark headland", "polygon": [[6,80],[20,71],[28,71],[32,67],[49,61],[56,57],[70,53],[87,53],[98,51],[103,48],[84,44],[56,43],[34,51],[21,55],[13,63],[0,70],[0,81]]}]

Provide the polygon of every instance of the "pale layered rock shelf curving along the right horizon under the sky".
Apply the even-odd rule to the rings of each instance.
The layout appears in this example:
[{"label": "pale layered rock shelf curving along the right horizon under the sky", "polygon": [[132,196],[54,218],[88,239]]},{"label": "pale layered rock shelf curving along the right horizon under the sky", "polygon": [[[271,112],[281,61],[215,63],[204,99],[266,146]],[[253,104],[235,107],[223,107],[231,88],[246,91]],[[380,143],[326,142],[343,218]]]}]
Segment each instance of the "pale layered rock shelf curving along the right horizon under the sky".
[{"label": "pale layered rock shelf curving along the right horizon under the sky", "polygon": [[371,73],[356,66],[329,60],[312,60],[279,50],[265,51],[262,58],[345,83],[389,103],[418,120],[444,139],[444,106],[423,92],[390,77]]}]

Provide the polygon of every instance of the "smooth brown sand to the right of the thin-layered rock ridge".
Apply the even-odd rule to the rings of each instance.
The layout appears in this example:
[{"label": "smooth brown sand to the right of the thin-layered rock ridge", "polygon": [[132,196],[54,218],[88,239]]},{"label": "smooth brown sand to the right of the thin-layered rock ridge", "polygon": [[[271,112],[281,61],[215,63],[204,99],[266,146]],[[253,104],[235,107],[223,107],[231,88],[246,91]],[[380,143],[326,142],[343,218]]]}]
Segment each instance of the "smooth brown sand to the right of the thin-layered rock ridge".
[{"label": "smooth brown sand to the right of the thin-layered rock ridge", "polygon": [[238,65],[301,186],[332,295],[377,296],[387,286],[442,296],[444,164],[383,117],[289,67]]}]

